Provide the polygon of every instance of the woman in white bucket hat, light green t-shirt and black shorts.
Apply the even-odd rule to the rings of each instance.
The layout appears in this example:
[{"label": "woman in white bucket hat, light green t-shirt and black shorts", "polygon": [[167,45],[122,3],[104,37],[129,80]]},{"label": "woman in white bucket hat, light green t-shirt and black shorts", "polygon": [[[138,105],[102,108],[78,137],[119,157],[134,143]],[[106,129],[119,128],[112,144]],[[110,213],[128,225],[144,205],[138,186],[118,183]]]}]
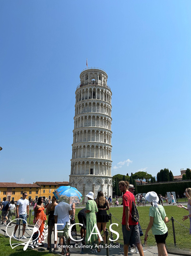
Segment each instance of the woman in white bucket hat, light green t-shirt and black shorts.
[{"label": "woman in white bucket hat, light green t-shirt and black shorts", "polygon": [[150,222],[148,224],[147,230],[145,232],[145,239],[147,240],[148,232],[152,228],[152,234],[155,235],[155,240],[158,248],[158,255],[168,256],[165,241],[168,236],[168,228],[166,223],[168,222],[168,217],[165,213],[165,209],[162,205],[159,205],[159,197],[154,191],[148,192],[145,195],[148,202],[151,202],[151,207],[149,210]]}]

